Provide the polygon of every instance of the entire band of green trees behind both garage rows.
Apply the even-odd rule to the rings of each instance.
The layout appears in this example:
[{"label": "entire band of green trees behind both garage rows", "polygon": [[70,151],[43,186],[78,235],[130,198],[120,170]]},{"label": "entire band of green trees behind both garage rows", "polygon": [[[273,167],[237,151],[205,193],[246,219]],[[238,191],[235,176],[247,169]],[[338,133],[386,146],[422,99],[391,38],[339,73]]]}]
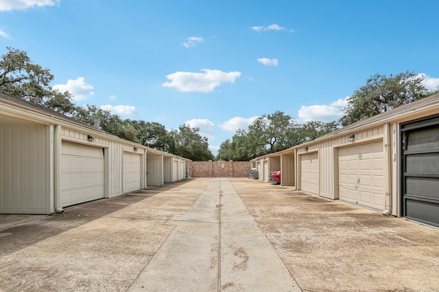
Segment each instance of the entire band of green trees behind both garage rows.
[{"label": "entire band of green trees behind both garage rows", "polygon": [[[33,64],[25,51],[7,49],[8,53],[0,57],[0,90],[90,125],[99,119],[102,130],[163,152],[193,161],[215,158],[209,150],[208,138],[200,135],[199,128],[182,124],[178,129],[167,131],[158,122],[123,120],[96,105],[75,105],[69,92],[59,92],[51,87],[54,75],[49,69]],[[340,122],[351,124],[434,94],[422,81],[423,76],[409,71],[389,77],[373,75],[348,97]],[[337,127],[335,121],[299,124],[283,111],[274,111],[259,116],[248,129],[239,129],[231,140],[222,142],[216,159],[248,161],[315,140]]]}]

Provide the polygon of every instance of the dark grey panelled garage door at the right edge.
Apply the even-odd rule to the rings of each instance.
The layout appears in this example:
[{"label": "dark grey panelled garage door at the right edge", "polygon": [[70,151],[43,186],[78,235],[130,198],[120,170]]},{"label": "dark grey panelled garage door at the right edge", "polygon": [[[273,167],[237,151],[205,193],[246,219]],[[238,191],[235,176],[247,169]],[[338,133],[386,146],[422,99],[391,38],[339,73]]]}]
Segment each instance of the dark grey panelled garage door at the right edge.
[{"label": "dark grey panelled garage door at the right edge", "polygon": [[439,226],[439,116],[401,125],[403,216]]}]

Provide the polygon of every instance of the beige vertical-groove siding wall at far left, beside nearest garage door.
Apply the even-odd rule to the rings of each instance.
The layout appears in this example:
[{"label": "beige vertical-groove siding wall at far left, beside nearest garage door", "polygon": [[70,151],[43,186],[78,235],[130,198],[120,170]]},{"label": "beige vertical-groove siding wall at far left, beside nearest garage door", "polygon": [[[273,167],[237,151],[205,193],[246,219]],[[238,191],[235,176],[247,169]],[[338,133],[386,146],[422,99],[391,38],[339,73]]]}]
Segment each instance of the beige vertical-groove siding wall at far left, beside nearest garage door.
[{"label": "beige vertical-groove siding wall at far left, beside nearest garage door", "polygon": [[0,213],[49,213],[50,127],[0,124]]}]

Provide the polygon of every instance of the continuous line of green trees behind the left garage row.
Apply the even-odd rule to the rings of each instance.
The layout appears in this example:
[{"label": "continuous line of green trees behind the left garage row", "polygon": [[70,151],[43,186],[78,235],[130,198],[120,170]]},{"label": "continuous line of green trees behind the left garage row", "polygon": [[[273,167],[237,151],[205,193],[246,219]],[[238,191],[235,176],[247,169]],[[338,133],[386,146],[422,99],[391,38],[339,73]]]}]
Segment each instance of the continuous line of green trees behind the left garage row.
[{"label": "continuous line of green trees behind the left garage row", "polygon": [[59,92],[51,87],[54,75],[49,69],[34,64],[25,51],[7,49],[8,53],[0,58],[0,90],[3,92],[86,124],[93,125],[98,119],[102,130],[163,152],[193,160],[213,159],[208,140],[201,137],[198,128],[183,124],[178,130],[167,131],[158,122],[123,120],[96,105],[75,105],[69,92]]}]

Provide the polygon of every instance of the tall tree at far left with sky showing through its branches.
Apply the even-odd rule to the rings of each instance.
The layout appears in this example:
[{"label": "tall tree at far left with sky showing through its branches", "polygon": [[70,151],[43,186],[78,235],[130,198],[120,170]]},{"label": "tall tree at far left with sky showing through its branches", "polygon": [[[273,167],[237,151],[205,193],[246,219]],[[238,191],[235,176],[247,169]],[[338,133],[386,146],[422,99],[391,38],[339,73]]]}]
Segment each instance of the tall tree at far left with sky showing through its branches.
[{"label": "tall tree at far left with sky showing through its branches", "polygon": [[0,58],[0,89],[25,101],[71,114],[75,106],[69,92],[53,90],[49,83],[54,75],[49,69],[33,64],[25,51],[7,47]]}]

